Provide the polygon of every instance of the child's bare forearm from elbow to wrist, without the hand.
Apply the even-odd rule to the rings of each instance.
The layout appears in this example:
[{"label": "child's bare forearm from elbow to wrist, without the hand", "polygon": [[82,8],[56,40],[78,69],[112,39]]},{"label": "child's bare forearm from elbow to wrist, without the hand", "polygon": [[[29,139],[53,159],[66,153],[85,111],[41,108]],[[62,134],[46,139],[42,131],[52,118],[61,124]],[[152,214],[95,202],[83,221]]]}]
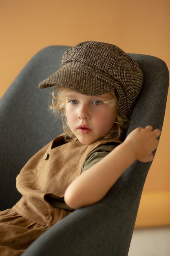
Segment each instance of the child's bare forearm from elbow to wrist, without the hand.
[{"label": "child's bare forearm from elbow to wrist, without the hand", "polygon": [[98,202],[134,161],[130,145],[124,141],[68,186],[64,195],[66,204],[78,209]]}]

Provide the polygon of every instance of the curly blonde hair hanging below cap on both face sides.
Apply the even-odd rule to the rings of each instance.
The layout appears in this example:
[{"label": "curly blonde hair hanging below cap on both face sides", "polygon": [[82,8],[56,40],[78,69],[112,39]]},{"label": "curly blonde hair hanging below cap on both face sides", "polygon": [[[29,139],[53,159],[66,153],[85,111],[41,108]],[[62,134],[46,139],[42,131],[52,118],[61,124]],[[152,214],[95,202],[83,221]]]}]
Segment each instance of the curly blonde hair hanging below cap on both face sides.
[{"label": "curly blonde hair hanging below cap on both face sides", "polygon": [[[66,111],[65,111],[65,92],[66,88],[58,86],[52,92],[52,103],[49,106],[50,109],[53,111],[56,118],[61,118],[63,123],[63,131],[64,131],[64,139],[68,141],[75,141],[77,138],[71,131],[70,127],[68,126],[68,122],[66,119]],[[104,135],[101,139],[115,139],[115,142],[121,143],[124,140],[126,129],[129,126],[129,119],[128,117],[119,117],[117,113],[119,101],[115,94],[115,91],[110,92],[110,108],[115,108],[116,112],[116,121],[114,123],[113,128]],[[110,117],[111,118],[111,117]]]}]

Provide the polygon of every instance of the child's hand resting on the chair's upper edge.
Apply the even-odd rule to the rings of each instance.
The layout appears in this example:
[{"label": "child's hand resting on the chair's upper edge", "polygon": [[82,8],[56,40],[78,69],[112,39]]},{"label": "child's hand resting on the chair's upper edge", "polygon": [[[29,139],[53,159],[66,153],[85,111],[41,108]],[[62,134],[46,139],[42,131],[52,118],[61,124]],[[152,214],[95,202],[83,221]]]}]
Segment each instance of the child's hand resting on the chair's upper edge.
[{"label": "child's hand resting on the chair's upper edge", "polygon": [[161,134],[159,129],[153,130],[152,126],[136,128],[127,136],[124,142],[128,143],[135,154],[135,159],[141,162],[149,162],[153,159],[152,151],[159,144],[157,137]]}]

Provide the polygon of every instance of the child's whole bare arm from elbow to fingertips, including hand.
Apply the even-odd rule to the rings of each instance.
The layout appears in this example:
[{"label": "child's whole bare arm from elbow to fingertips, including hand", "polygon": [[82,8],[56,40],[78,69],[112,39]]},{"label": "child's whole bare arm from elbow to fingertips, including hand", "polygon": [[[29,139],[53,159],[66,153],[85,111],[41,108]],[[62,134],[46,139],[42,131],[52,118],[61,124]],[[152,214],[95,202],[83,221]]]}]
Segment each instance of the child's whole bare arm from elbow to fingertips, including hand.
[{"label": "child's whole bare arm from elbow to fingertips, including hand", "polygon": [[153,159],[152,151],[158,146],[159,135],[160,130],[152,130],[152,126],[130,132],[122,144],[68,186],[64,195],[66,204],[78,209],[101,200],[135,160],[149,162]]}]

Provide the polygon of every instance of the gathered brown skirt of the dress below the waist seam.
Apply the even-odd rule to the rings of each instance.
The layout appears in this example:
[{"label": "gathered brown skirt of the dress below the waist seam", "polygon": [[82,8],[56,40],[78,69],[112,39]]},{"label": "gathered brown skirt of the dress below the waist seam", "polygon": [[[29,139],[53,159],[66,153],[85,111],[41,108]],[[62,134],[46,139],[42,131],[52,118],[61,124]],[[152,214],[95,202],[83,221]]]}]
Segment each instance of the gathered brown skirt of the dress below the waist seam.
[{"label": "gathered brown skirt of the dress below the waist seam", "polygon": [[46,229],[46,225],[32,222],[13,209],[1,211],[0,255],[21,255]]}]

